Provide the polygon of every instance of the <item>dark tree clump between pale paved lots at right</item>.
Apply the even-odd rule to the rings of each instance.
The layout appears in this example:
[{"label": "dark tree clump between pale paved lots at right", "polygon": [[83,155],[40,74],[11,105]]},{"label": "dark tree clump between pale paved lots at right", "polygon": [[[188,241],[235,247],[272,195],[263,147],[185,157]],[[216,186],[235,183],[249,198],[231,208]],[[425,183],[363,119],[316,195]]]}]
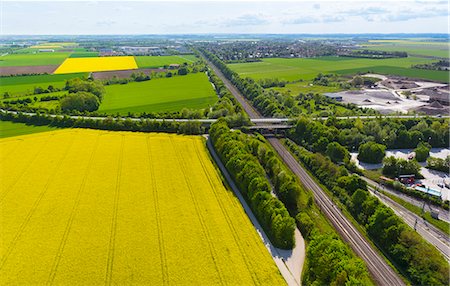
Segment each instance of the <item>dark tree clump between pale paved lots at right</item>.
[{"label": "dark tree clump between pale paved lots at right", "polygon": [[382,173],[391,178],[401,175],[415,175],[416,178],[423,178],[420,174],[420,168],[419,163],[415,160],[405,160],[390,156],[383,160]]}]

